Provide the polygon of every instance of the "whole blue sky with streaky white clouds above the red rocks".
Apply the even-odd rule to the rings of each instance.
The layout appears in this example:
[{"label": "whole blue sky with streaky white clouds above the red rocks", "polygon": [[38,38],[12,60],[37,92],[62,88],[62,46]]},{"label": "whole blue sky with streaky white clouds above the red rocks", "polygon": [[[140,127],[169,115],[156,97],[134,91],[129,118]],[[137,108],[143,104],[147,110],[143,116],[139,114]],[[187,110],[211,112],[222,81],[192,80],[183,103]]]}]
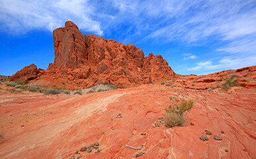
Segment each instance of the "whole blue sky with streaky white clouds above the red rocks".
[{"label": "whole blue sky with streaky white clouds above the red rocks", "polygon": [[0,0],[0,74],[54,62],[52,30],[73,21],[160,54],[177,74],[256,65],[256,0]]}]

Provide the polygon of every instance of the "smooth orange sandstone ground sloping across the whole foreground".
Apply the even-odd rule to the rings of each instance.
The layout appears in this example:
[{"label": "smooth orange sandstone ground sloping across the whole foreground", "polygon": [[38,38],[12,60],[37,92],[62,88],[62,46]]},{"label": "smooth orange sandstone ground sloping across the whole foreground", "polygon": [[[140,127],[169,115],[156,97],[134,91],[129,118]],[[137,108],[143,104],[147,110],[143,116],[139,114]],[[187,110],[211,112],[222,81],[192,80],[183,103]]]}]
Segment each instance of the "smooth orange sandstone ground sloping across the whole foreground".
[{"label": "smooth orange sandstone ground sloping across the whole foreground", "polygon": [[[1,87],[0,127],[5,138],[0,158],[134,158],[139,152],[145,154],[138,158],[256,156],[255,87],[206,91],[149,84],[50,96],[7,93],[6,86]],[[184,127],[167,129],[159,123],[164,107],[171,104],[170,95],[195,101]],[[210,140],[200,140],[205,130],[212,132]],[[214,140],[215,134],[223,140]],[[96,142],[101,152],[75,154]]]}]

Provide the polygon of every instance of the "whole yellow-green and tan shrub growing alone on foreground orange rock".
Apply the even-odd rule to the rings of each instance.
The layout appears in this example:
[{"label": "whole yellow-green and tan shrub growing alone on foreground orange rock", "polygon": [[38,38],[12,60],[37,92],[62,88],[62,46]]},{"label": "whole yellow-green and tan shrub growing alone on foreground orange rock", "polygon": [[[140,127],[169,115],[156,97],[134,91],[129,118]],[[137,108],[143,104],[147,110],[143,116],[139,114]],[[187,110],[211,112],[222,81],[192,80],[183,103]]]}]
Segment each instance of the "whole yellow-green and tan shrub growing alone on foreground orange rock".
[{"label": "whole yellow-green and tan shrub growing alone on foreground orange rock", "polygon": [[175,96],[170,96],[169,98],[173,105],[165,109],[164,123],[168,128],[183,126],[186,122],[185,116],[189,113],[190,109],[192,109],[194,101],[192,101],[192,99],[182,100],[177,104]]}]

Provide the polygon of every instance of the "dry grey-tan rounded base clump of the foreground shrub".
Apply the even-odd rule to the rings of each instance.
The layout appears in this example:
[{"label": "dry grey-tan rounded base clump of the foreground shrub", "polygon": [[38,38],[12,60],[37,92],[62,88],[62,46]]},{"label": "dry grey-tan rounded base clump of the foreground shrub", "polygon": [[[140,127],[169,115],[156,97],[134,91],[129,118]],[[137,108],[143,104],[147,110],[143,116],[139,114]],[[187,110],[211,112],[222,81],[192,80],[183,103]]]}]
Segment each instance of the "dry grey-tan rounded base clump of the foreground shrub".
[{"label": "dry grey-tan rounded base clump of the foreground shrub", "polygon": [[164,123],[166,127],[182,127],[184,123],[186,122],[186,119],[182,115],[178,115],[176,113],[165,113],[164,115]]}]

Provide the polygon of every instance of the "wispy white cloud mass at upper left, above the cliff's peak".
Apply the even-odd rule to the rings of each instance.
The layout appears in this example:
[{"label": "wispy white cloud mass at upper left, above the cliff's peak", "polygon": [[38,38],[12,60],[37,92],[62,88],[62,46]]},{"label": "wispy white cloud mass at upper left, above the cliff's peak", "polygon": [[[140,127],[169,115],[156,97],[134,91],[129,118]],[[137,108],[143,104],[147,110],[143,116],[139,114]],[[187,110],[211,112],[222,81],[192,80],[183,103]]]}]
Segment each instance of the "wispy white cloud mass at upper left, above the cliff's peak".
[{"label": "wispy white cloud mass at upper left, above the cliff's peak", "polygon": [[68,20],[74,21],[81,30],[103,34],[100,23],[93,20],[94,6],[88,1],[25,1],[1,0],[0,21],[2,31],[25,34],[29,30],[42,29],[52,32],[64,26]]}]

